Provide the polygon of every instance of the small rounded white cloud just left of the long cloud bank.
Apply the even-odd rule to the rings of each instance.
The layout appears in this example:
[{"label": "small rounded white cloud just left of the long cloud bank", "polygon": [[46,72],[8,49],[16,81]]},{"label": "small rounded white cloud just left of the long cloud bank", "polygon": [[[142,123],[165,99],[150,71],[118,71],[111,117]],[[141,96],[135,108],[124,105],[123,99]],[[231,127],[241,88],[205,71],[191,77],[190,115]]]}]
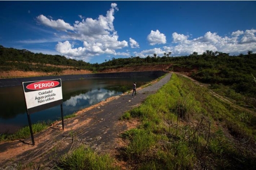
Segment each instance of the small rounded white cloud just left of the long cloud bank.
[{"label": "small rounded white cloud just left of the long cloud bank", "polygon": [[147,36],[147,41],[150,42],[150,45],[165,44],[166,37],[164,34],[160,33],[158,30],[157,31],[151,30],[151,33],[148,34]]}]

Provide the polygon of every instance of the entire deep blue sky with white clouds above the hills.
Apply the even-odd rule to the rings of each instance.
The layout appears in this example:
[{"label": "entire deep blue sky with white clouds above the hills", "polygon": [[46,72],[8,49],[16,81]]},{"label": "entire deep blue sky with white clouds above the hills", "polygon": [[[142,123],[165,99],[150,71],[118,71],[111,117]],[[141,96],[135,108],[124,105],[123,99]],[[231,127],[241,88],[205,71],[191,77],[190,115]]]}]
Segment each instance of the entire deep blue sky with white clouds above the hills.
[{"label": "entire deep blue sky with white clouds above the hills", "polygon": [[0,1],[0,45],[90,63],[256,53],[256,1]]}]

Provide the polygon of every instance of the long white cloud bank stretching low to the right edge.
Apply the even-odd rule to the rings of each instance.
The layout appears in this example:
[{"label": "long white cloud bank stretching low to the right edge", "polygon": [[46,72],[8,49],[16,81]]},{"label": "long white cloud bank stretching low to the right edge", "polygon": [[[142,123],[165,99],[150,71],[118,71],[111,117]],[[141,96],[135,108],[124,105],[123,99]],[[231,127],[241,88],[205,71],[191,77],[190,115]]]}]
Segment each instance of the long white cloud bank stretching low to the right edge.
[{"label": "long white cloud bank stretching low to the right edge", "polygon": [[[164,53],[172,52],[172,56],[185,56],[193,52],[203,54],[205,51],[223,52],[230,55],[246,54],[248,51],[256,52],[256,30],[234,31],[230,36],[220,36],[217,33],[206,32],[203,36],[189,39],[189,36],[173,33],[173,43],[162,48],[153,48],[136,52],[140,57],[157,54],[163,56]],[[177,44],[178,43],[178,44]]]}]

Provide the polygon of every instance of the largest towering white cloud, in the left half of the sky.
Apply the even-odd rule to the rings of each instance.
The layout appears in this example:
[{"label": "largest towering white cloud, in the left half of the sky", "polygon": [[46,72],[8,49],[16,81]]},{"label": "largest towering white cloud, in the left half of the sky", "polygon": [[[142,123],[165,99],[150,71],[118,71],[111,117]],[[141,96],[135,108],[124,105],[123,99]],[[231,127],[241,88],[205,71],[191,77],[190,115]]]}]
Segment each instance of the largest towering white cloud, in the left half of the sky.
[{"label": "largest towering white cloud, in the left half of the sky", "polygon": [[[39,15],[37,20],[42,25],[66,33],[59,35],[63,42],[59,41],[55,49],[68,58],[90,58],[100,54],[117,55],[116,50],[127,47],[128,42],[118,40],[119,36],[113,25],[116,11],[118,11],[117,4],[112,3],[111,9],[106,12],[105,16],[99,15],[97,19],[83,19],[82,15],[78,15],[82,20],[75,21],[73,26],[62,19],[53,20],[44,15]],[[55,35],[58,36],[57,33]],[[71,45],[76,41],[82,42],[83,46]],[[127,53],[120,52],[118,54],[127,55]]]}]

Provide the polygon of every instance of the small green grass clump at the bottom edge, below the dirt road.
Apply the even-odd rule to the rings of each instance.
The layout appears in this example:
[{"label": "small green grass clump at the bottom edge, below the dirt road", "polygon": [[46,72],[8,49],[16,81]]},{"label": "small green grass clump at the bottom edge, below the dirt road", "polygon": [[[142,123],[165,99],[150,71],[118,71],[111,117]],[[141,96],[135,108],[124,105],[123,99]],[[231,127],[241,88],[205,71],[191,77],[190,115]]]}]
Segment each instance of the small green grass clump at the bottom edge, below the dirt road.
[{"label": "small green grass clump at the bottom edge, below the dirt road", "polygon": [[71,154],[61,156],[55,169],[120,169],[109,155],[98,155],[81,144]]}]

